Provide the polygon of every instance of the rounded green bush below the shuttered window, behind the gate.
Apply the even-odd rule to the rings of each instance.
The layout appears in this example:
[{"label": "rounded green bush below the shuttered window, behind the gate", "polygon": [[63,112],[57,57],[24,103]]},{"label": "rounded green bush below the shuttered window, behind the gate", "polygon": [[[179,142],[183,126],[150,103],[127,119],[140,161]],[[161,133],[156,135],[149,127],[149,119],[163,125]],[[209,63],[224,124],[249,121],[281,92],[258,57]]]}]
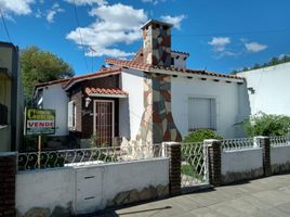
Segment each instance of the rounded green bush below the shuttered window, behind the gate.
[{"label": "rounded green bush below the shuttered window, behind the gate", "polygon": [[183,140],[185,143],[202,142],[205,139],[223,139],[211,129],[198,129],[189,132]]}]

